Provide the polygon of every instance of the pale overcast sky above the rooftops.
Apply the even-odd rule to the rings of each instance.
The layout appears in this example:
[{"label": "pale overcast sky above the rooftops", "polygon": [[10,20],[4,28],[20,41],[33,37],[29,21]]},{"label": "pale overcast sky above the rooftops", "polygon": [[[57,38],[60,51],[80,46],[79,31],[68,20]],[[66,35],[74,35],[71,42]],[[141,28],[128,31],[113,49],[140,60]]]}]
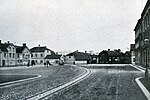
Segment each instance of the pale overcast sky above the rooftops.
[{"label": "pale overcast sky above the rooftops", "polygon": [[0,0],[0,39],[56,51],[129,50],[147,0]]}]

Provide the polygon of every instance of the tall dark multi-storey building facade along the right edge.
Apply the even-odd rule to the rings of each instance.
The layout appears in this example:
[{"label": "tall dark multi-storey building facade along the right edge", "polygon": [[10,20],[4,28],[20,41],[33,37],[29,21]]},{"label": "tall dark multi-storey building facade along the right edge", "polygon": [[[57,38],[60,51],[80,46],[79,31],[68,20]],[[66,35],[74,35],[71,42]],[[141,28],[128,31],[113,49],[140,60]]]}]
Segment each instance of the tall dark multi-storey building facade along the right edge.
[{"label": "tall dark multi-storey building facade along the right edge", "polygon": [[[150,65],[150,0],[147,1],[141,18],[135,26],[135,64]],[[145,40],[148,40],[148,44]]]}]

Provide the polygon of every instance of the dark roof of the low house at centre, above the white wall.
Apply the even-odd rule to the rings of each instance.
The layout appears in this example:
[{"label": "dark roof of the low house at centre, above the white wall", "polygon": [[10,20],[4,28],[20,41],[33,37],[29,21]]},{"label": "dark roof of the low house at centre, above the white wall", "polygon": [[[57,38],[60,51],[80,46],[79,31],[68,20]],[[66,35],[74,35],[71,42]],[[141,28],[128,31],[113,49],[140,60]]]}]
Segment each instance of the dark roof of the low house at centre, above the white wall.
[{"label": "dark roof of the low house at centre, above the white wall", "polygon": [[85,60],[90,60],[91,59],[90,54],[83,53],[83,52],[78,52],[78,51],[69,53],[66,56],[74,56],[76,61],[85,61]]}]

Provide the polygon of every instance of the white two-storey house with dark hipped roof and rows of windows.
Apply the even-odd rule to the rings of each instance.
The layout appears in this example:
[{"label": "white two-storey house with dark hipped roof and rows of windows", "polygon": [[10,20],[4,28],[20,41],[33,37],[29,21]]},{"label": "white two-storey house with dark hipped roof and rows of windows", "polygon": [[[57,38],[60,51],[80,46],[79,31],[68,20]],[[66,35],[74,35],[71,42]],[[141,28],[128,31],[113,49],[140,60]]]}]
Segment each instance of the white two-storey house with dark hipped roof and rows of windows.
[{"label": "white two-storey house with dark hipped roof and rows of windows", "polygon": [[30,49],[31,62],[34,61],[36,64],[44,64],[44,58],[47,55],[55,54],[54,51],[48,49],[46,46],[37,46]]}]

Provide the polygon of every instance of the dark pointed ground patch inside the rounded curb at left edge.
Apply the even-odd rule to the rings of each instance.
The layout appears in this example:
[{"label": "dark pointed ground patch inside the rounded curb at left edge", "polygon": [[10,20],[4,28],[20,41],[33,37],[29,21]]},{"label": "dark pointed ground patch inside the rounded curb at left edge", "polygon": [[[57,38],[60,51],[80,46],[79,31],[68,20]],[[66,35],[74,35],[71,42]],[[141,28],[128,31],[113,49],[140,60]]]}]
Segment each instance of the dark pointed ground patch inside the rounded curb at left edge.
[{"label": "dark pointed ground patch inside the rounded curb at left edge", "polygon": [[37,75],[0,75],[0,84],[36,77]]}]

